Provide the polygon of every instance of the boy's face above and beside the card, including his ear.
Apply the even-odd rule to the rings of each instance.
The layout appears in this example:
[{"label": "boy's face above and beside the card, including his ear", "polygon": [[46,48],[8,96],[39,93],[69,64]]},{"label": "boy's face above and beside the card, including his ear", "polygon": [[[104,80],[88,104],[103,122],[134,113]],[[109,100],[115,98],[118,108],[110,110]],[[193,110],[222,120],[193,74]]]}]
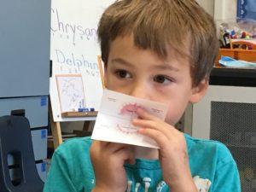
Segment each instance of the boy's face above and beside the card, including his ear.
[{"label": "boy's face above and beside the card, including his ear", "polygon": [[177,58],[172,49],[166,60],[151,50],[139,49],[130,36],[110,46],[105,83],[109,90],[168,105],[166,122],[175,125],[189,102],[198,102],[207,81],[192,87],[189,59]]}]

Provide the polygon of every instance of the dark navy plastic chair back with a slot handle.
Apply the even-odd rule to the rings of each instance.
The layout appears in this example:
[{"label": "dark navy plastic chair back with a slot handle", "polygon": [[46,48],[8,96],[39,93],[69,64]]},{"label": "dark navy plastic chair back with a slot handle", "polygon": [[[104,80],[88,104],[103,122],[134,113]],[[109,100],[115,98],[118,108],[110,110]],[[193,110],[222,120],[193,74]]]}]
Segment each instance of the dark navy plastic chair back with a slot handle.
[{"label": "dark navy plastic chair back with a slot handle", "polygon": [[[19,167],[20,181],[12,181],[8,156]],[[28,119],[22,116],[0,117],[0,192],[42,192],[44,182],[38,175]]]}]

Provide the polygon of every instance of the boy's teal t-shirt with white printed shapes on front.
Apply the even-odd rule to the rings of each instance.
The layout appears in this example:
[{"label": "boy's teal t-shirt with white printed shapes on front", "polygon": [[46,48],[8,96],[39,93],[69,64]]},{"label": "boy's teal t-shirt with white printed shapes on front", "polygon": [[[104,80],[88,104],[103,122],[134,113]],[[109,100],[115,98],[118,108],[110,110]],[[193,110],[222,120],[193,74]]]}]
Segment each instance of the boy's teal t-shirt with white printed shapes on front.
[{"label": "boy's teal t-shirt with white printed shapes on front", "polygon": [[[189,166],[201,192],[240,192],[236,162],[224,144],[196,139],[185,134]],[[90,137],[62,143],[51,160],[44,192],[90,192],[95,175],[90,162]],[[126,192],[169,192],[163,181],[159,160],[136,160],[125,165]]]}]

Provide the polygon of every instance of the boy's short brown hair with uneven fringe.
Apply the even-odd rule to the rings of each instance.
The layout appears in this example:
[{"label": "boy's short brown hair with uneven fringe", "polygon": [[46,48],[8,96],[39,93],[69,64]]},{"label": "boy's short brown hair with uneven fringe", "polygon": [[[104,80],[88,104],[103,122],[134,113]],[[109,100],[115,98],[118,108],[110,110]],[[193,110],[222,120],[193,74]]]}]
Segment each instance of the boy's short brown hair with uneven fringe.
[{"label": "boy's short brown hair with uneven fringe", "polygon": [[108,65],[110,44],[133,35],[138,48],[151,49],[166,58],[170,47],[188,56],[193,86],[209,78],[218,53],[212,17],[194,0],[120,0],[102,15],[98,38],[102,61]]}]

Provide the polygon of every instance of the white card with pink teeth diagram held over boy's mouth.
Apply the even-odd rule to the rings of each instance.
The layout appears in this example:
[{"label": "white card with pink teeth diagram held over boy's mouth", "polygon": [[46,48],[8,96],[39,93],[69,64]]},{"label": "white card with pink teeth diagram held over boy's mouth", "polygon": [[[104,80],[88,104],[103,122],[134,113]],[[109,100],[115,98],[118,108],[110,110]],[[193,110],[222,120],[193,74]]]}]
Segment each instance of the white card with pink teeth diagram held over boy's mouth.
[{"label": "white card with pink teeth diagram held over boy's mouth", "polygon": [[163,103],[127,96],[112,90],[104,90],[91,138],[113,143],[159,148],[154,140],[138,134],[138,127],[131,124],[131,120],[137,118],[137,108],[144,108],[148,113],[160,119],[166,117],[167,106]]}]

